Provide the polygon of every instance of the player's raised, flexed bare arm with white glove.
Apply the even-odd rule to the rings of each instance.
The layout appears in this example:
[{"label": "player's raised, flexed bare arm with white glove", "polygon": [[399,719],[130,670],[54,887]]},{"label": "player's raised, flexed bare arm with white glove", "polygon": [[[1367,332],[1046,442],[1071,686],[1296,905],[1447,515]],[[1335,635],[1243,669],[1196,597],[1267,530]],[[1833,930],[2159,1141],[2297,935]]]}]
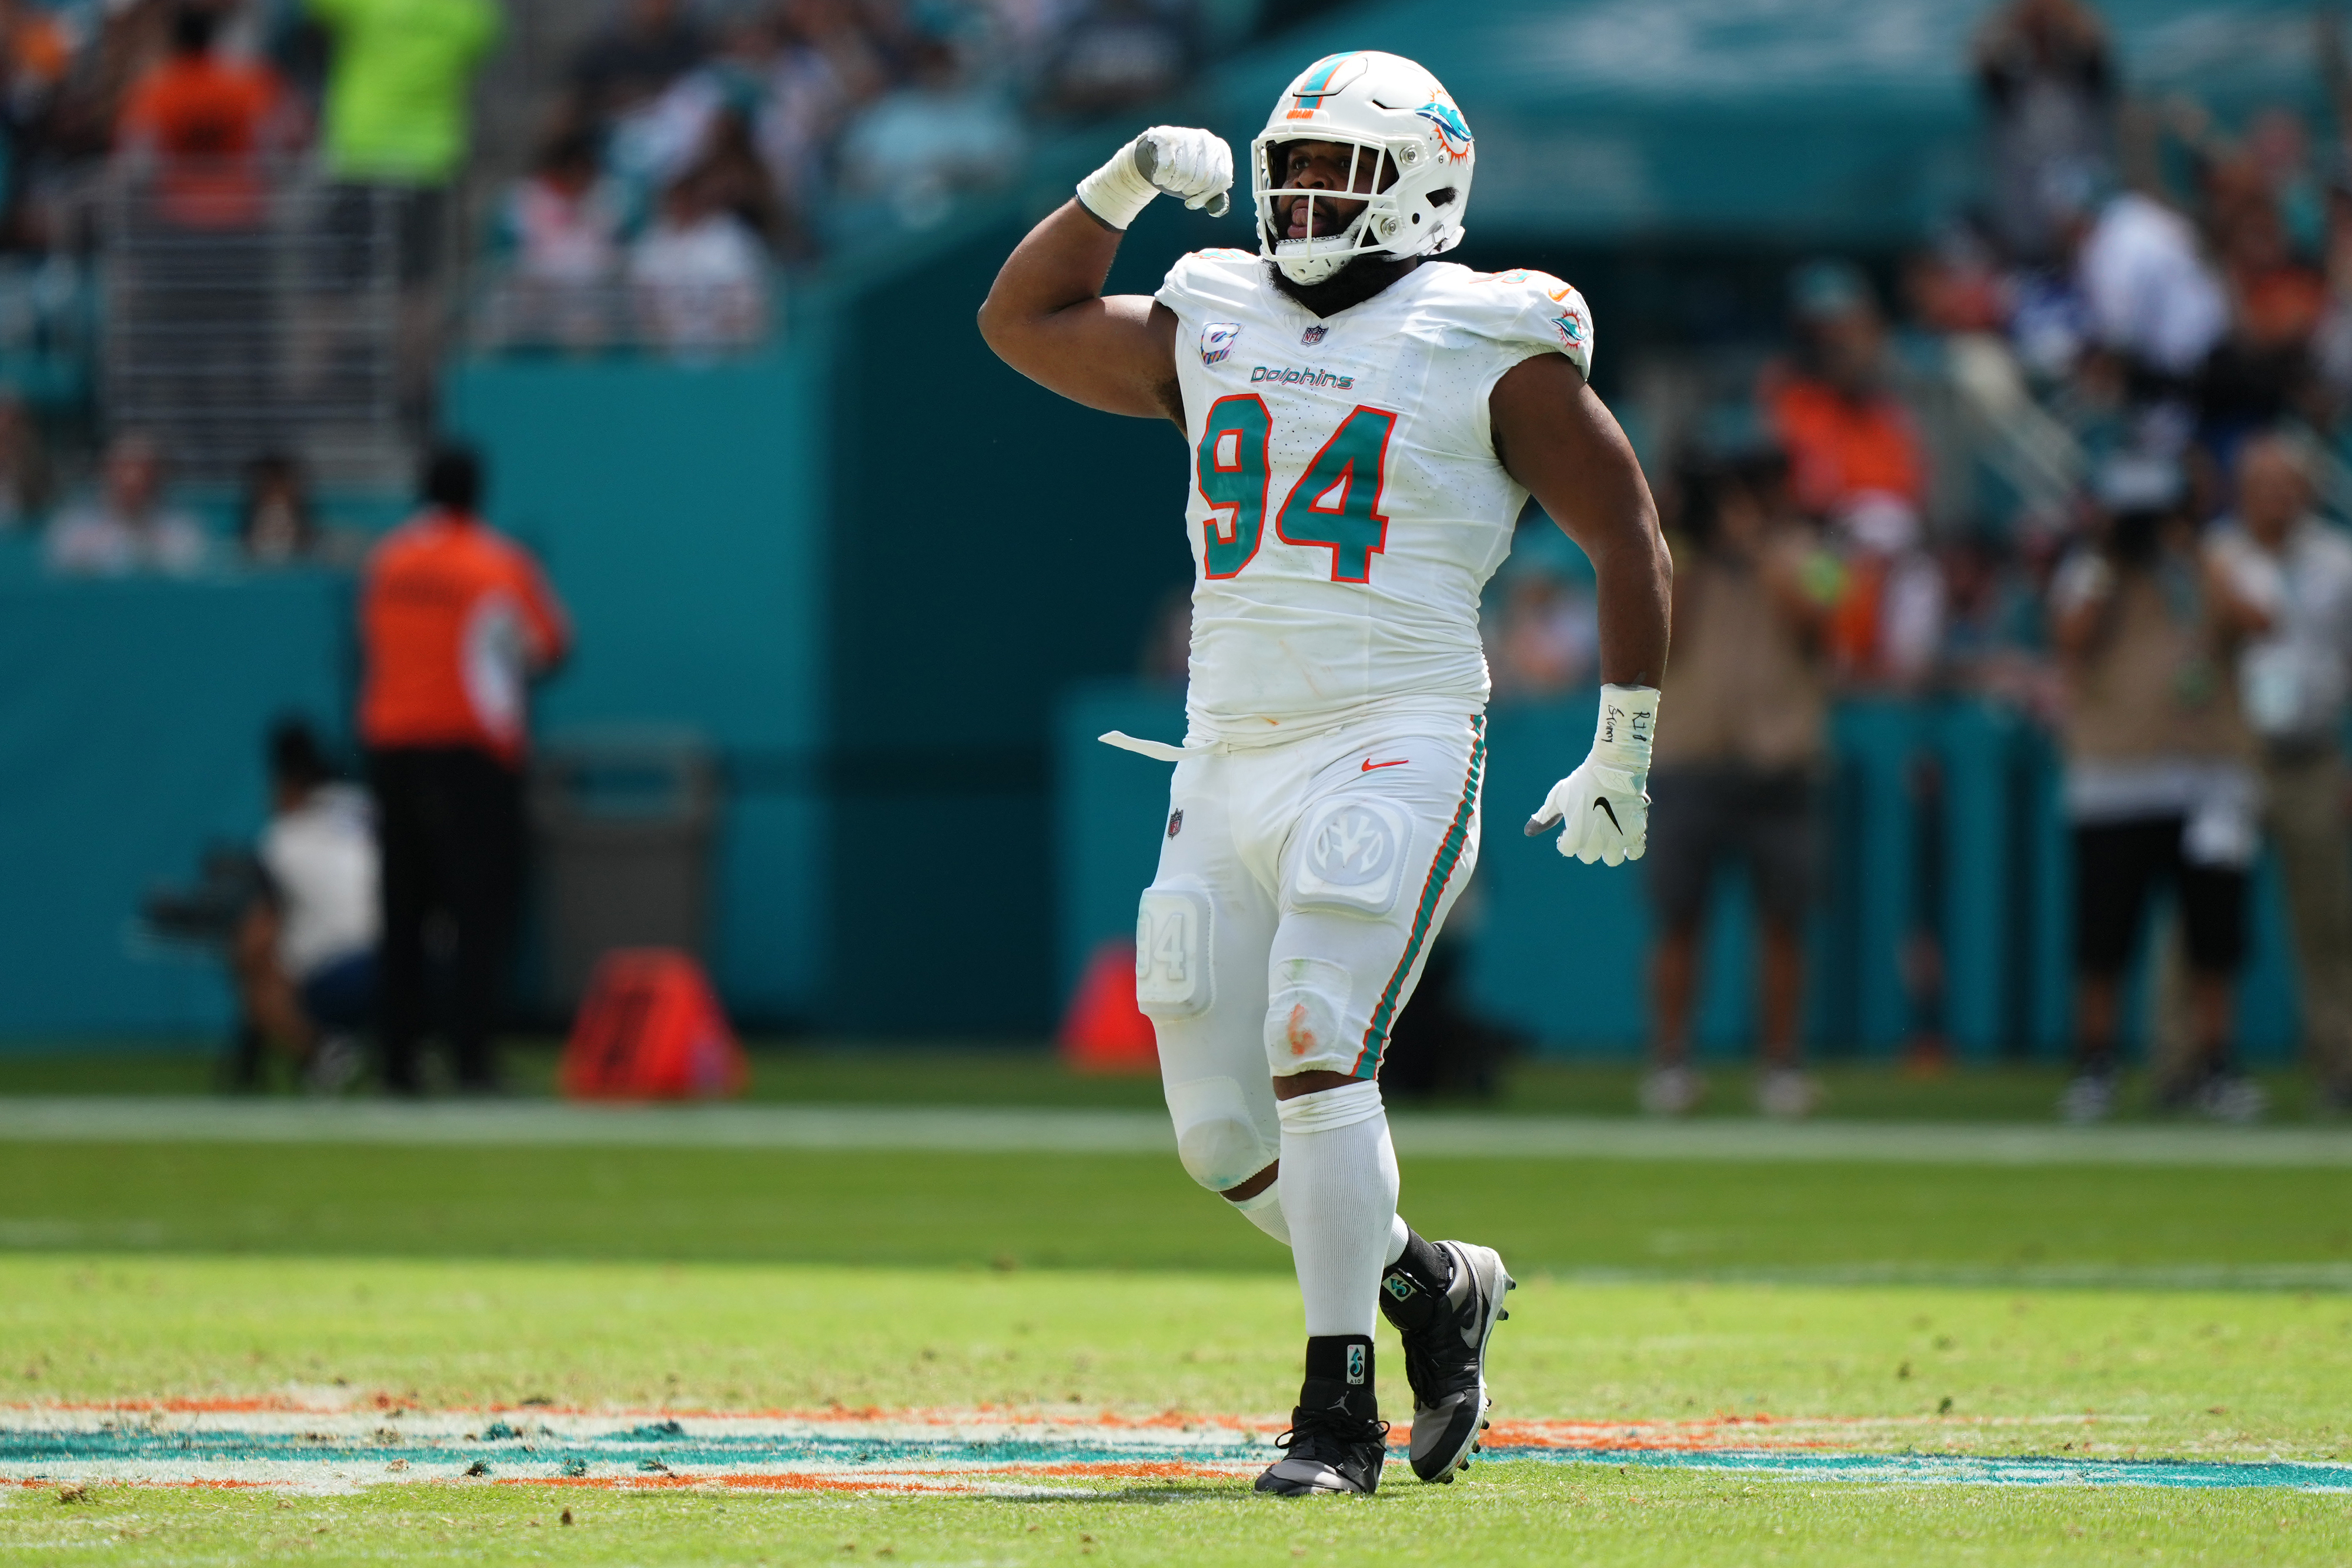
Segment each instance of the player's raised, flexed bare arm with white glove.
[{"label": "player's raised, flexed bare arm with white glove", "polygon": [[981,303],[981,336],[1000,360],[1073,402],[1183,425],[1176,313],[1145,294],[1103,299],[1103,277],[1155,195],[1211,207],[1230,183],[1232,153],[1209,132],[1143,132],[1014,247]]}]

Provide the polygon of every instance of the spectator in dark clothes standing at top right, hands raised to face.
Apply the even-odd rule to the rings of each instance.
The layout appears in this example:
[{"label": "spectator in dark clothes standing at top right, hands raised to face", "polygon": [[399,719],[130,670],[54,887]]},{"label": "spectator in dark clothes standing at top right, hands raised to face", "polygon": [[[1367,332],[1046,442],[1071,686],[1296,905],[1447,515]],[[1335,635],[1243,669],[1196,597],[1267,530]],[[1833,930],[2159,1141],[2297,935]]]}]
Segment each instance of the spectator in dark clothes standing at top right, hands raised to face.
[{"label": "spectator in dark clothes standing at top right, hands raised to face", "polygon": [[2020,263],[2053,261],[2070,190],[2114,172],[2114,63],[2082,0],[2009,0],[1976,38],[1992,113],[1992,221]]}]

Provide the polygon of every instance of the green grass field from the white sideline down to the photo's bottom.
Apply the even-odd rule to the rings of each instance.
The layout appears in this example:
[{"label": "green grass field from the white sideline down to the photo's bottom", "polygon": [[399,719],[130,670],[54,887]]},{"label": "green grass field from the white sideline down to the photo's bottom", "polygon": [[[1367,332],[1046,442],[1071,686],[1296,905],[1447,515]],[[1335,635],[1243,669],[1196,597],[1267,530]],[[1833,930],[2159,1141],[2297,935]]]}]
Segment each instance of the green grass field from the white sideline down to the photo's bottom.
[{"label": "green grass field from the white sideline down to the photo's bottom", "polygon": [[[33,1077],[0,1067],[0,1088]],[[790,1079],[809,1100],[873,1103],[896,1074],[818,1058],[767,1077],[769,1093]],[[1138,1088],[967,1056],[917,1077],[962,1103],[1004,1103],[983,1084],[1063,1105],[1134,1103]],[[1849,1098],[1938,1088],[2039,1095],[1889,1079]],[[1670,1434],[1773,1418],[1755,1429],[1860,1455],[2352,1460],[2352,1168],[1409,1159],[1404,1208],[1432,1234],[1494,1241],[1526,1279],[1491,1363],[1505,1420]],[[1296,1312],[1287,1253],[1143,1154],[0,1145],[0,1403],[16,1410],[252,1396],[367,1408],[381,1394],[426,1408],[1275,1418],[1296,1389]],[[1402,1415],[1399,1359],[1383,1371]],[[54,1483],[0,1486],[0,1552],[2352,1561],[2352,1493],[2274,1486],[1512,1460],[1451,1488],[1392,1467],[1376,1500],[1282,1505],[1230,1476],[901,1497],[445,1472],[353,1495],[101,1481],[61,1502]]]}]

